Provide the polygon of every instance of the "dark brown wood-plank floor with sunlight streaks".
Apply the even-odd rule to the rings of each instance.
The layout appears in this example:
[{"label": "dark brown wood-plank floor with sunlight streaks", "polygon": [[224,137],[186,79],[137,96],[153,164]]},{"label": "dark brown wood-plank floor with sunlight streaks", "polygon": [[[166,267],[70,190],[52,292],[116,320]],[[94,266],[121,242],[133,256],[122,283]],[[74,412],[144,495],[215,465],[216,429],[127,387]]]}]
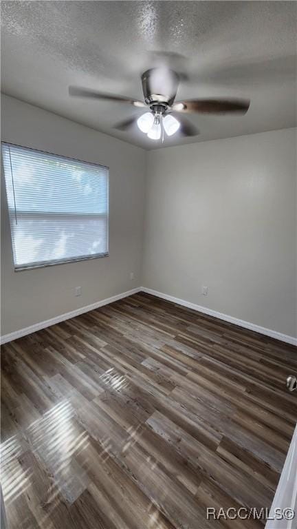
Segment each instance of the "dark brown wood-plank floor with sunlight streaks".
[{"label": "dark brown wood-plank floor with sunlight streaks", "polygon": [[2,350],[10,529],[263,527],[297,418],[296,348],[144,293]]}]

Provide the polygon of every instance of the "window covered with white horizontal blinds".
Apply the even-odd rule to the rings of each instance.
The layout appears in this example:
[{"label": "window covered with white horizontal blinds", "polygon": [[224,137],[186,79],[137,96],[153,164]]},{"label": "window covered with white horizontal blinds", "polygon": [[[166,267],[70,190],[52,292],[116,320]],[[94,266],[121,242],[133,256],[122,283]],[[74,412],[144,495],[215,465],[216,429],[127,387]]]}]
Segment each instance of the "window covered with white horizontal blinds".
[{"label": "window covered with white horizontal blinds", "polygon": [[109,169],[2,144],[14,269],[108,255]]}]

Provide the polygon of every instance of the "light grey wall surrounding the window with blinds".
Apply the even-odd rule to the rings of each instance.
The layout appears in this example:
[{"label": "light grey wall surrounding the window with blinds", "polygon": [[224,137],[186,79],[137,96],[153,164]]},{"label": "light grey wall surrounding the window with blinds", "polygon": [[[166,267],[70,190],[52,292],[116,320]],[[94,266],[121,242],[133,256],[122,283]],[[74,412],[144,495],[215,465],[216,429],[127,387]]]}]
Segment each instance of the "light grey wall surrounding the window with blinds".
[{"label": "light grey wall surrounding the window with blinds", "polygon": [[[107,258],[14,272],[2,192],[1,335],[5,335],[140,286],[145,152],[8,96],[2,97],[1,106],[3,141],[110,168]],[[82,287],[78,298],[75,286]]]}]

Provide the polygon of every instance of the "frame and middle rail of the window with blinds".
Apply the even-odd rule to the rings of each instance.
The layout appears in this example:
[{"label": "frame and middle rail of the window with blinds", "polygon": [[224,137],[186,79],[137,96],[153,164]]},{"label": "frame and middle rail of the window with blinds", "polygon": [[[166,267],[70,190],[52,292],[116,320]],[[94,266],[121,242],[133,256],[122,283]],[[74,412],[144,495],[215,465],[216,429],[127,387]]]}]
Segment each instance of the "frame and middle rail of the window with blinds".
[{"label": "frame and middle rail of the window with blinds", "polygon": [[[10,221],[10,216],[11,216],[11,213],[10,213],[10,207],[8,205],[8,193],[7,193],[7,187],[6,187],[6,179],[5,179],[5,170],[4,170],[4,163],[3,163],[3,151],[2,151],[2,146],[5,145],[5,146],[8,146],[8,147],[19,147],[21,149],[27,149],[28,151],[33,151],[33,152],[40,152],[40,153],[44,153],[44,154],[50,154],[52,156],[57,156],[58,158],[62,158],[62,159],[65,159],[65,160],[71,160],[73,162],[79,162],[79,163],[83,163],[83,164],[87,164],[87,165],[94,165],[94,167],[103,167],[104,169],[107,169],[107,213],[106,214],[83,214],[83,213],[78,213],[78,214],[71,214],[71,213],[61,213],[61,214],[56,214],[56,212],[45,212],[43,213],[42,211],[19,211],[19,213],[22,215],[22,214],[25,214],[25,215],[28,215],[28,216],[38,216],[38,215],[41,215],[41,216],[53,216],[53,215],[57,215],[57,216],[74,216],[74,217],[79,217],[79,216],[87,216],[87,217],[103,217],[103,218],[106,218],[107,220],[107,251],[104,252],[104,253],[92,253],[91,255],[87,255],[87,256],[79,256],[77,258],[65,258],[65,259],[56,259],[56,260],[52,260],[51,262],[42,262],[42,261],[34,261],[34,262],[29,262],[28,264],[24,264],[24,265],[20,265],[19,267],[16,266],[15,262],[14,262],[14,250],[13,250],[13,240],[12,240],[12,225],[11,225],[11,221]],[[7,212],[8,212],[8,222],[9,222],[9,227],[10,227],[10,242],[11,242],[11,251],[12,251],[12,264],[13,264],[13,268],[14,268],[14,272],[21,272],[21,271],[25,271],[25,270],[32,270],[32,269],[37,269],[37,268],[46,268],[46,267],[54,267],[54,266],[57,266],[58,264],[66,264],[67,262],[80,262],[80,261],[88,261],[88,260],[93,260],[93,259],[100,259],[100,258],[104,258],[104,257],[109,257],[109,166],[108,165],[103,165],[103,164],[99,164],[99,163],[94,163],[94,162],[88,162],[86,160],[80,160],[79,158],[72,158],[71,156],[64,156],[63,154],[56,154],[54,152],[50,152],[50,151],[44,151],[44,150],[41,150],[41,149],[36,149],[34,147],[27,147],[25,145],[19,145],[17,143],[11,143],[9,141],[5,141],[5,140],[1,140],[1,168],[2,168],[2,173],[3,173],[3,179],[4,179],[4,187],[5,187],[5,201],[6,201],[6,207],[7,207]]]}]

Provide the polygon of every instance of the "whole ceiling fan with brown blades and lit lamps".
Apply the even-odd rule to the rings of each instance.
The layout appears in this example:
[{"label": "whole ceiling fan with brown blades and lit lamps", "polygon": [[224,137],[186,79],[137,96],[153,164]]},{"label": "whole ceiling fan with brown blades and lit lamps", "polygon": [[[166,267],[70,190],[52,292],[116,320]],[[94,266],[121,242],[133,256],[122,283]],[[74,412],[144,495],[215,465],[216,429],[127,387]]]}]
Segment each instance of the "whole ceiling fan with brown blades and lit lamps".
[{"label": "whole ceiling fan with brown blades and lit lamps", "polygon": [[[127,130],[136,122],[139,129],[147,134],[148,138],[159,140],[162,136],[163,141],[164,132],[167,136],[172,136],[177,130],[182,136],[199,134],[197,128],[181,115],[183,113],[245,114],[250,107],[250,101],[237,99],[190,99],[175,103],[180,76],[168,68],[147,70],[142,74],[141,79],[144,102],[76,86],[69,87],[69,95],[114,101],[115,103],[130,103],[138,109],[147,108],[148,112],[139,118],[132,116],[115,125],[115,128]],[[175,117],[175,114],[178,118]]]}]

